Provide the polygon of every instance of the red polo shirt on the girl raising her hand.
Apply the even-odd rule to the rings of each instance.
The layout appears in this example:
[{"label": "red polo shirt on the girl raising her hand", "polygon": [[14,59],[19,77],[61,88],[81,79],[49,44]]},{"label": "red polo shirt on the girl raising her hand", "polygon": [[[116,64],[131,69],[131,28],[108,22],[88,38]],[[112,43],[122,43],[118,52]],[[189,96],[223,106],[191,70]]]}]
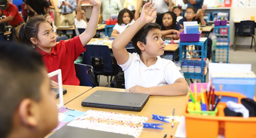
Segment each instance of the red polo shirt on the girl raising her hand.
[{"label": "red polo shirt on the girl raising her hand", "polygon": [[52,48],[50,53],[46,53],[39,48],[37,50],[43,56],[43,61],[48,72],[61,69],[63,84],[80,84],[80,81],[76,77],[74,61],[81,53],[85,52],[85,47],[83,47],[79,36],[69,41],[60,41]]}]

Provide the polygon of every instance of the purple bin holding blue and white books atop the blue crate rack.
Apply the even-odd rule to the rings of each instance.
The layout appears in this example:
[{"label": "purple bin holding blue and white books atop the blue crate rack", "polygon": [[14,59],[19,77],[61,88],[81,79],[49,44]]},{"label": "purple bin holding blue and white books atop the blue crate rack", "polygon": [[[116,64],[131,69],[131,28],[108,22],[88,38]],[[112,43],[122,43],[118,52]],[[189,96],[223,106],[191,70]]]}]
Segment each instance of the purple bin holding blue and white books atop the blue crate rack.
[{"label": "purple bin holding blue and white books atop the blue crate rack", "polygon": [[180,42],[199,42],[202,30],[197,34],[184,34],[184,30],[180,32]]}]

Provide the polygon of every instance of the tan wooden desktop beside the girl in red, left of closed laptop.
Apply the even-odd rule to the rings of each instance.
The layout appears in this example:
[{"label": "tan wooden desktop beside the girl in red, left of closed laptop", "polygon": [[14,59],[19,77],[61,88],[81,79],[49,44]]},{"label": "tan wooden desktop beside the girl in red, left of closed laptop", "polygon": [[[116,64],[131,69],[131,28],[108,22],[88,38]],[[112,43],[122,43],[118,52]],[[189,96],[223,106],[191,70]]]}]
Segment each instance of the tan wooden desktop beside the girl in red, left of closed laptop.
[{"label": "tan wooden desktop beside the girl in red, left of closed laptop", "polygon": [[[67,93],[63,95],[64,105],[74,100],[76,97],[84,94],[86,91],[92,89],[88,86],[73,86],[73,85],[63,85],[63,89],[67,89]],[[59,103],[59,99],[57,99]]]}]

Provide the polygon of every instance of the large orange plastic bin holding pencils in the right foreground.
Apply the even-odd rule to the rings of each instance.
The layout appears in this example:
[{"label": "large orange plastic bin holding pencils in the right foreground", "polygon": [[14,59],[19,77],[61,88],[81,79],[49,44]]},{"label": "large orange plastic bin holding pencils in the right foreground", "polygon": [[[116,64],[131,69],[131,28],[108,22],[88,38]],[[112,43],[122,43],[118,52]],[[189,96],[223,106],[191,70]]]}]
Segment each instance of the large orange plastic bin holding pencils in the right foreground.
[{"label": "large orange plastic bin holding pencils in the right foreground", "polygon": [[[216,95],[237,97],[238,103],[245,96],[237,92],[215,92]],[[198,98],[200,90],[198,91]],[[189,95],[186,96],[189,99]],[[217,138],[218,134],[225,138],[251,138],[256,135],[256,117],[233,117],[224,116],[226,103],[217,105],[217,116],[194,115],[187,111],[188,100],[186,100],[183,115],[185,116],[187,138]]]}]

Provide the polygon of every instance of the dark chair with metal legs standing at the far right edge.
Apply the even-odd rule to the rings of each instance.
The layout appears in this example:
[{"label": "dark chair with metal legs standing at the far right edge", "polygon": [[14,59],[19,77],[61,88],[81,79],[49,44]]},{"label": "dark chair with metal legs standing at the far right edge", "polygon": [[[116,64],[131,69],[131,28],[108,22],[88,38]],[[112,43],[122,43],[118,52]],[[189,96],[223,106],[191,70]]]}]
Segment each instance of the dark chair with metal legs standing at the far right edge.
[{"label": "dark chair with metal legs standing at the far right edge", "polygon": [[[241,21],[238,26],[238,32],[235,30],[235,38],[233,43],[233,49],[236,50],[236,40],[237,37],[252,37],[252,41],[254,39],[254,51],[256,52],[256,40],[255,40],[255,22],[251,20]],[[252,43],[251,43],[252,48]]]}]

